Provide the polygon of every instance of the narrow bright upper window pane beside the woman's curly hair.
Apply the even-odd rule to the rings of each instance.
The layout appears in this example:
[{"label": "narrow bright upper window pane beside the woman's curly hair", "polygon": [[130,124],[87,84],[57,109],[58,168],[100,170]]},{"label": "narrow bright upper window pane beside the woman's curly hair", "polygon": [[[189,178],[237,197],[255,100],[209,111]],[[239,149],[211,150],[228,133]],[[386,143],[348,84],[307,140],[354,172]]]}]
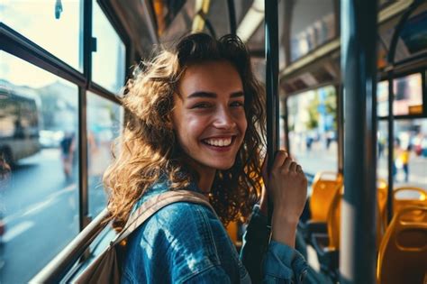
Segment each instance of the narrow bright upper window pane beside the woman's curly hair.
[{"label": "narrow bright upper window pane beside the woman's curly hair", "polygon": [[124,85],[125,47],[99,5],[94,1],[92,79],[107,90],[117,93]]}]

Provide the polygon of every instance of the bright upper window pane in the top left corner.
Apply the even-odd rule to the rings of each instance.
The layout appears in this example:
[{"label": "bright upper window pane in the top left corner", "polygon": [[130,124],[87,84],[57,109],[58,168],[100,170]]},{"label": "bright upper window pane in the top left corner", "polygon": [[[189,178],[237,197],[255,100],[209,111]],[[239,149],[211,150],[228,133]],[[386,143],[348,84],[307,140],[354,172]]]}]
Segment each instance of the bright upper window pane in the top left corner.
[{"label": "bright upper window pane in the top left corner", "polygon": [[83,5],[78,0],[0,1],[0,18],[16,32],[83,70]]}]

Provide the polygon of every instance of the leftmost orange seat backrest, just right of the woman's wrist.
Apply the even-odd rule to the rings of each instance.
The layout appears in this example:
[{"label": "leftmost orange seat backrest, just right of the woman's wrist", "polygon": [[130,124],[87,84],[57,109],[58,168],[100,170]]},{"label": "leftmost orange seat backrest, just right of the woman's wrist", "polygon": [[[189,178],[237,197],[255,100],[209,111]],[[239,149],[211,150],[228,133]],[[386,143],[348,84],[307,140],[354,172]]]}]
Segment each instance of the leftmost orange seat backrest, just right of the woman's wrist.
[{"label": "leftmost orange seat backrest, just right of the woman's wrist", "polygon": [[336,172],[318,172],[313,181],[310,197],[311,220],[326,222],[332,199],[342,186],[342,175]]}]

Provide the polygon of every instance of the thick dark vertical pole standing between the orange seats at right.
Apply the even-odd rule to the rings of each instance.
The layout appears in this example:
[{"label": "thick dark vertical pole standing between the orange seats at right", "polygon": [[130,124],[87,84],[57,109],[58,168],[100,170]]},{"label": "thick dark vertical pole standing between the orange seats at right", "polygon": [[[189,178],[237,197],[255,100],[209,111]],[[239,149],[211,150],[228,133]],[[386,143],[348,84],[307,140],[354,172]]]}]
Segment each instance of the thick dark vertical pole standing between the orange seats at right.
[{"label": "thick dark vertical pole standing between the orange seats at right", "polygon": [[341,0],[344,198],[341,283],[376,281],[377,1]]}]

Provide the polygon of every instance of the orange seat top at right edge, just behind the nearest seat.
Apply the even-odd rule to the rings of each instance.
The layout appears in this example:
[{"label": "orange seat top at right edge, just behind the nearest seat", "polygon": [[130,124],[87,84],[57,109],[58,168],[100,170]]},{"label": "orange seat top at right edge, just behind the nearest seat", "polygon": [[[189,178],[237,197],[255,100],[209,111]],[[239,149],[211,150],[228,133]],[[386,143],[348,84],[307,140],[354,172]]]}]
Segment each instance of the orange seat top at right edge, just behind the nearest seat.
[{"label": "orange seat top at right edge, just behind the nearest seat", "polygon": [[[427,190],[415,187],[395,188],[393,190],[394,215],[407,206],[427,206]],[[404,217],[414,221],[419,220],[420,217],[422,218],[422,215],[420,216],[417,212],[413,212],[412,215],[407,214]]]}]

